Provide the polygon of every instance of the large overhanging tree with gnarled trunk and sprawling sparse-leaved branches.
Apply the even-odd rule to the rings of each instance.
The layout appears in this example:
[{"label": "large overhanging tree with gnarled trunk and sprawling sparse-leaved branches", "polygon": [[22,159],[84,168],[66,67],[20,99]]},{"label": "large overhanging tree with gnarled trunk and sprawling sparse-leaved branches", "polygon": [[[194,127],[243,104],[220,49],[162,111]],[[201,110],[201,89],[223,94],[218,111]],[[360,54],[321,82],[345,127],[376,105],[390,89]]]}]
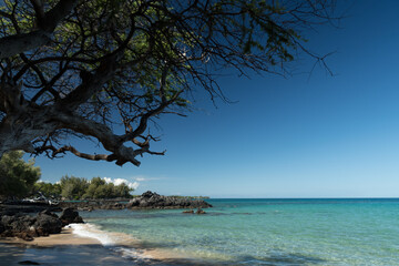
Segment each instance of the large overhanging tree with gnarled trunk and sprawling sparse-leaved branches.
[{"label": "large overhanging tree with gnarled trunk and sprawling sparse-leaved branches", "polygon": [[[0,156],[70,152],[117,165],[164,154],[150,150],[150,123],[184,114],[194,88],[223,98],[221,69],[285,74],[299,53],[324,62],[300,34],[335,20],[335,0],[3,2]],[[83,153],[72,136],[108,154]]]}]

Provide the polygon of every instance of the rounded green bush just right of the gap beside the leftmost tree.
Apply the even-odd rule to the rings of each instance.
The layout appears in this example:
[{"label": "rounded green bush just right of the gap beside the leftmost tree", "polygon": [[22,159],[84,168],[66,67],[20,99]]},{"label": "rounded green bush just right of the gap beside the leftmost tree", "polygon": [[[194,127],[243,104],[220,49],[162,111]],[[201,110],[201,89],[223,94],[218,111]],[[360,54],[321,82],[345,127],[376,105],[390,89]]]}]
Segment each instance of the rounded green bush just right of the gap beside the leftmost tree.
[{"label": "rounded green bush just right of the gap beside the leftmost tree", "polygon": [[62,176],[60,180],[61,195],[70,200],[81,200],[89,187],[88,180],[75,176]]}]

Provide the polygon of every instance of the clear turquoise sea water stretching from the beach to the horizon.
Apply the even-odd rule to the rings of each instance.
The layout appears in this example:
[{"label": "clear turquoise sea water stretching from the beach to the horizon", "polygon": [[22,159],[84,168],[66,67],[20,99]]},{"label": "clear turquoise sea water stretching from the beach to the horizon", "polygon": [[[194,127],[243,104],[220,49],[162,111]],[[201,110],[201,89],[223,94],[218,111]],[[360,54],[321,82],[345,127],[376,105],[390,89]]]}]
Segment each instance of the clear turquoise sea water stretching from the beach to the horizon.
[{"label": "clear turquoise sea water stretching from the beach to the horizon", "polygon": [[208,200],[205,215],[83,213],[104,231],[209,265],[399,265],[399,200]]}]

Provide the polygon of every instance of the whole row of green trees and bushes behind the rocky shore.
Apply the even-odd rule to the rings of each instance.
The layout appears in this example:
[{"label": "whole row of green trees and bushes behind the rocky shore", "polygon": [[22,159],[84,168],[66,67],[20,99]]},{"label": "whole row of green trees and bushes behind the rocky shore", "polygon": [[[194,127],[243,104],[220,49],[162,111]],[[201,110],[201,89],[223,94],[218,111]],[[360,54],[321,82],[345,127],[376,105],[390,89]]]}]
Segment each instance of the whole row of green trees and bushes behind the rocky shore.
[{"label": "whole row of green trees and bushes behind the rocky shore", "polygon": [[114,185],[101,177],[88,181],[84,177],[62,176],[57,184],[39,182],[40,167],[34,160],[28,163],[22,158],[23,152],[10,152],[0,160],[0,196],[3,198],[22,198],[38,194],[47,197],[68,200],[132,197],[125,183]]}]

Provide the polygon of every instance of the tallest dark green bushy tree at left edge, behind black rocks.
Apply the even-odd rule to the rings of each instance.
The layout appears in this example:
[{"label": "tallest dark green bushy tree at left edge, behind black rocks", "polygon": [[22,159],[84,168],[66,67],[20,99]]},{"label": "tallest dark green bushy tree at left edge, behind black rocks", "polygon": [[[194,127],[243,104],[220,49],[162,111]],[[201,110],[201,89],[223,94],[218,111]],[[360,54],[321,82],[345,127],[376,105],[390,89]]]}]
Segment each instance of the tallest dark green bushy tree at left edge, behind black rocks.
[{"label": "tallest dark green bushy tree at left edge, behind black rocks", "polygon": [[40,178],[40,167],[34,160],[28,163],[22,158],[23,152],[10,152],[0,160],[0,195],[23,197],[32,192]]}]

